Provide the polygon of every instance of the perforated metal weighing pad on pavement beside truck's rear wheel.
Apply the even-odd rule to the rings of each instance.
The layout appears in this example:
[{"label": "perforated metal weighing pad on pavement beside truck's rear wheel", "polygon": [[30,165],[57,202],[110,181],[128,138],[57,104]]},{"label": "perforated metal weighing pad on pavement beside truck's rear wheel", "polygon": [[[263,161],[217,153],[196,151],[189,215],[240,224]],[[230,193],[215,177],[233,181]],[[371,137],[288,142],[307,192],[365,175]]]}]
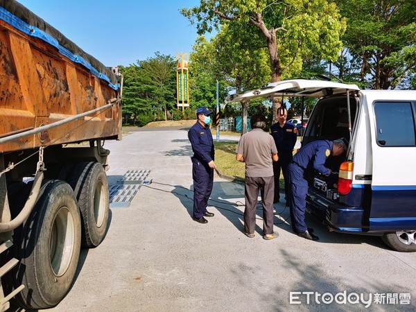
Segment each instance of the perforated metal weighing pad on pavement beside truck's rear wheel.
[{"label": "perforated metal weighing pad on pavement beside truck's rear wheel", "polygon": [[127,208],[148,177],[150,170],[129,170],[109,186],[110,208]]}]

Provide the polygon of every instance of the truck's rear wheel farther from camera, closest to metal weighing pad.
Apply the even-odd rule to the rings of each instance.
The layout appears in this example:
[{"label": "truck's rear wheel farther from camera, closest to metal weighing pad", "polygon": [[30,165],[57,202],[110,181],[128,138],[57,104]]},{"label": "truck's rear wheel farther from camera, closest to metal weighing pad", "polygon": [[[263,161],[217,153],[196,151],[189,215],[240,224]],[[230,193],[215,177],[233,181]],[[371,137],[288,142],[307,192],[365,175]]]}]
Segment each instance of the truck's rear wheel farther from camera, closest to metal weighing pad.
[{"label": "truck's rear wheel farther from camera, closest to metal weighing pad", "polygon": [[78,200],[83,219],[81,244],[94,248],[107,233],[110,210],[107,175],[98,162],[81,162],[74,166],[67,181]]}]

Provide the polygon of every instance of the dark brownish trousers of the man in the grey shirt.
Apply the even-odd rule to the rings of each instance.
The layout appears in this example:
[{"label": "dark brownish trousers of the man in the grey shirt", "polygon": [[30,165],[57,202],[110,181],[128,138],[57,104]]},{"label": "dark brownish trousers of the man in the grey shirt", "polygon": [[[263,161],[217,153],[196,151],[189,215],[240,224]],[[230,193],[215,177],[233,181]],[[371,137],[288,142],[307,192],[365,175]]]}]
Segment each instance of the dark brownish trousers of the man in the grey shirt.
[{"label": "dark brownish trousers of the man in the grey shirt", "polygon": [[263,204],[263,234],[273,233],[273,190],[275,189],[273,177],[245,176],[245,209],[244,231],[254,234],[256,229],[256,209],[259,190]]}]

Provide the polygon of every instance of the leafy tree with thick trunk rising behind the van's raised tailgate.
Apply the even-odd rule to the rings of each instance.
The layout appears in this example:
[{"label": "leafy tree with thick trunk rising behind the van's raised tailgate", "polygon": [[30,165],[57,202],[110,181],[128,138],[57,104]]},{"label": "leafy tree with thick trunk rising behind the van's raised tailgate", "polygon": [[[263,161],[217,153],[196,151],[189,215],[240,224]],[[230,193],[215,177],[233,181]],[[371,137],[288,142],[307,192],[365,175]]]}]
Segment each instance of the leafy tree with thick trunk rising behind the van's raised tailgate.
[{"label": "leafy tree with thick trunk rising behind the van's raised tailgate", "polygon": [[[196,8],[182,8],[182,14],[197,24],[200,34],[239,23],[241,31],[260,35],[268,51],[272,82],[298,72],[302,60],[311,56],[335,61],[345,31],[345,19],[336,4],[327,0],[201,0]],[[279,99],[273,101],[275,120],[279,105]]]}]

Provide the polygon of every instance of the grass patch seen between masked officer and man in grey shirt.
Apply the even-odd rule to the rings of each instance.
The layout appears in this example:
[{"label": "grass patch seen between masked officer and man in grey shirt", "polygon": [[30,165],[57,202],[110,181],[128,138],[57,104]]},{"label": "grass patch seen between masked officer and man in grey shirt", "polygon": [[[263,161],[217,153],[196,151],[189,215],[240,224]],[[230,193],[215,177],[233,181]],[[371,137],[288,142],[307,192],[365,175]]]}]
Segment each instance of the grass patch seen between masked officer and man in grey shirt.
[{"label": "grass patch seen between masked officer and man in grey shirt", "polygon": [[[218,170],[225,175],[236,177],[238,181],[244,181],[245,164],[236,161],[236,148],[239,142],[216,142],[215,147],[215,163]],[[284,189],[283,175],[280,173],[280,188]]]}]

